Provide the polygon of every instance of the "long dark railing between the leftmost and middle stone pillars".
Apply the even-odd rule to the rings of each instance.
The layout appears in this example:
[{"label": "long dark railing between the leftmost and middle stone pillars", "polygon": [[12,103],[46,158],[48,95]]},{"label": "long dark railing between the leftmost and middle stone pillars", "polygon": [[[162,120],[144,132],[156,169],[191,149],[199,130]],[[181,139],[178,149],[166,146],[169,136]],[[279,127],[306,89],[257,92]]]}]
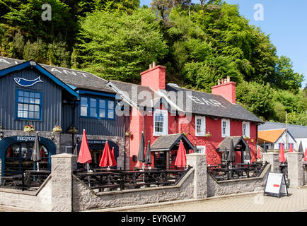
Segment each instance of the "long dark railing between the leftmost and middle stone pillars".
[{"label": "long dark railing between the leftmost and middle stone pillars", "polygon": [[187,169],[93,169],[93,172],[76,170],[74,174],[91,189],[112,191],[139,189],[141,187],[169,186],[180,182],[190,170]]}]

